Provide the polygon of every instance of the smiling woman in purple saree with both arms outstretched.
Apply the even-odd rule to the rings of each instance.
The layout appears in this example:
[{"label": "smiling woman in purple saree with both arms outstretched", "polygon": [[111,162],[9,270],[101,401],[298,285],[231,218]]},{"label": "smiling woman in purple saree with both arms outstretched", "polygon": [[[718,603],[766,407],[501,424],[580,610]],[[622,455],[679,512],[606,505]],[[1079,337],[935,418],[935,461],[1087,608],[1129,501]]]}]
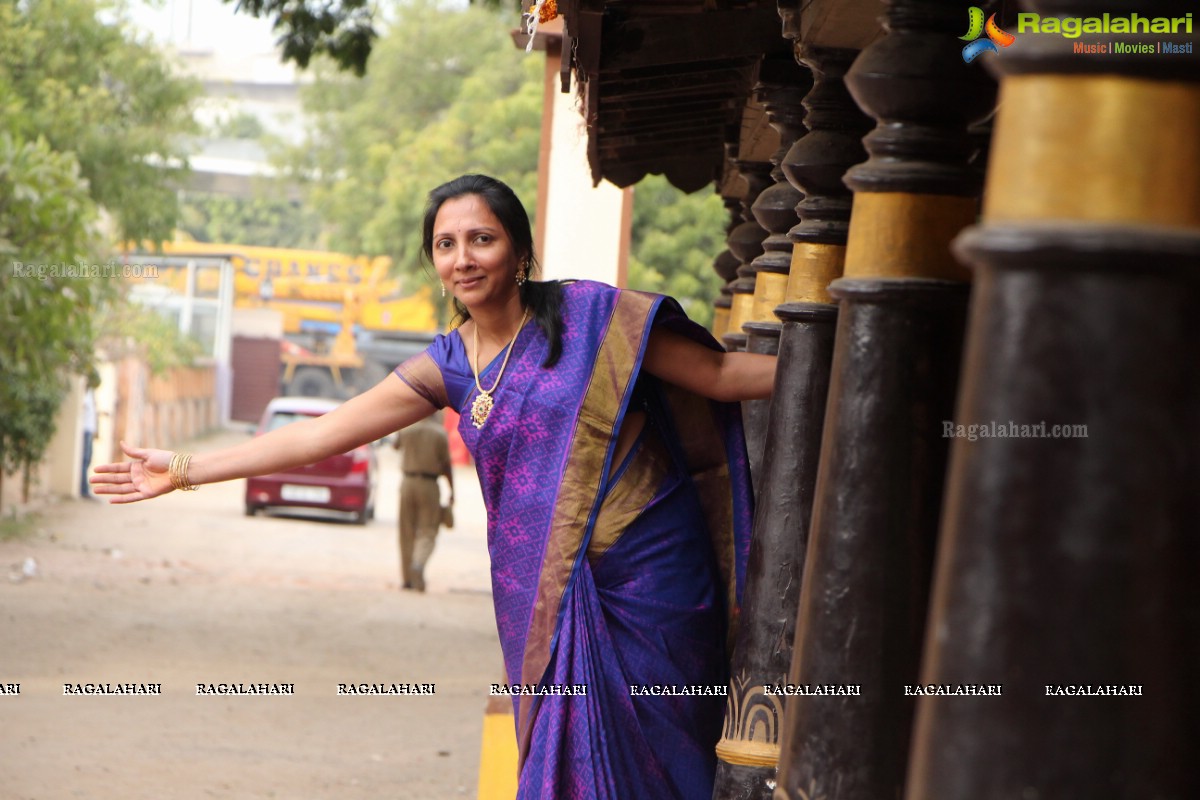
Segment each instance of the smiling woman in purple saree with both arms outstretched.
[{"label": "smiling woman in purple saree with both arms outstretched", "polygon": [[666,297],[528,279],[528,217],[499,181],[430,199],[425,252],[460,327],[322,417],[191,459],[125,447],[96,491],[278,471],[455,408],[487,507],[518,798],[708,800],[752,516],[730,401],[768,395],[774,360],[725,354]]}]

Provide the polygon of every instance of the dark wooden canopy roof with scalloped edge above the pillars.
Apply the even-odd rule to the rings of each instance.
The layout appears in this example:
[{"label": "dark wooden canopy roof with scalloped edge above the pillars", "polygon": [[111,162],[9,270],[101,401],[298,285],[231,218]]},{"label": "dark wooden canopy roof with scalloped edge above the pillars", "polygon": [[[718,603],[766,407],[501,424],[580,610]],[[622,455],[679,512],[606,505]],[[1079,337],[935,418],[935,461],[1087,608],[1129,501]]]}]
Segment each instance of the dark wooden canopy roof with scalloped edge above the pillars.
[{"label": "dark wooden canopy roof with scalloped edge above the pillars", "polygon": [[[767,161],[778,146],[754,97],[762,60],[792,53],[775,0],[559,0],[558,8],[564,88],[570,72],[595,182],[629,186],[654,173],[691,192],[727,180],[726,156]],[[846,46],[877,34],[882,6],[810,0],[804,8],[814,36]],[[784,11],[798,29],[799,10]]]}]

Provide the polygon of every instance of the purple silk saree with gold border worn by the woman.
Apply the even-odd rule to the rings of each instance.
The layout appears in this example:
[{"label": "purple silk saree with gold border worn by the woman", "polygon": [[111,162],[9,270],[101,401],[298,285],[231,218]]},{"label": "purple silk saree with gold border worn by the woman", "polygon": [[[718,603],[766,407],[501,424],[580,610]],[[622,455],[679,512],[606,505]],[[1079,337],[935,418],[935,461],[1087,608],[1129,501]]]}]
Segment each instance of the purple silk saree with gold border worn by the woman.
[{"label": "purple silk saree with gold border worn by the woman", "polygon": [[[673,300],[569,283],[563,319],[550,369],[541,330],[517,335],[482,429],[457,332],[396,371],[463,414],[509,681],[586,686],[515,697],[518,799],[708,800],[724,697],[642,691],[728,684],[752,516],[739,413],[641,374],[654,326],[715,347]],[[632,410],[646,411],[644,428],[613,464]]]}]

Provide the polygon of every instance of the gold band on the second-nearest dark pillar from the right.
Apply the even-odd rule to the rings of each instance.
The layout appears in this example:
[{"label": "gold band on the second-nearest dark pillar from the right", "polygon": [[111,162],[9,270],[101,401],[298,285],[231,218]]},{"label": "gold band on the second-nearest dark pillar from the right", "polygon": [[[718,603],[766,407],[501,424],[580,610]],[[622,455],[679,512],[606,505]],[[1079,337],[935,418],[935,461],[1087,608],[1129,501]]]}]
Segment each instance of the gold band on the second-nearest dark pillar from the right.
[{"label": "gold band on the second-nearest dark pillar from the right", "polygon": [[973,197],[857,192],[845,277],[968,282],[950,241],[976,222],[978,207]]}]

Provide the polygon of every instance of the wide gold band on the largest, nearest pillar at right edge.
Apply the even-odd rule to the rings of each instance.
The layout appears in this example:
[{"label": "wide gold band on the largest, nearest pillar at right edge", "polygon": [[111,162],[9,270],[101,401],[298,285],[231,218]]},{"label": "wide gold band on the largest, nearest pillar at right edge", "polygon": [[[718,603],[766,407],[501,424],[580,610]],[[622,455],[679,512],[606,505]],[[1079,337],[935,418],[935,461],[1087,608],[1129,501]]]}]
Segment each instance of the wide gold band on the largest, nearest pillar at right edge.
[{"label": "wide gold band on the largest, nearest pillar at right edge", "polygon": [[1021,113],[998,116],[984,197],[989,222],[1200,228],[1195,84],[1012,76],[1001,104]]}]

